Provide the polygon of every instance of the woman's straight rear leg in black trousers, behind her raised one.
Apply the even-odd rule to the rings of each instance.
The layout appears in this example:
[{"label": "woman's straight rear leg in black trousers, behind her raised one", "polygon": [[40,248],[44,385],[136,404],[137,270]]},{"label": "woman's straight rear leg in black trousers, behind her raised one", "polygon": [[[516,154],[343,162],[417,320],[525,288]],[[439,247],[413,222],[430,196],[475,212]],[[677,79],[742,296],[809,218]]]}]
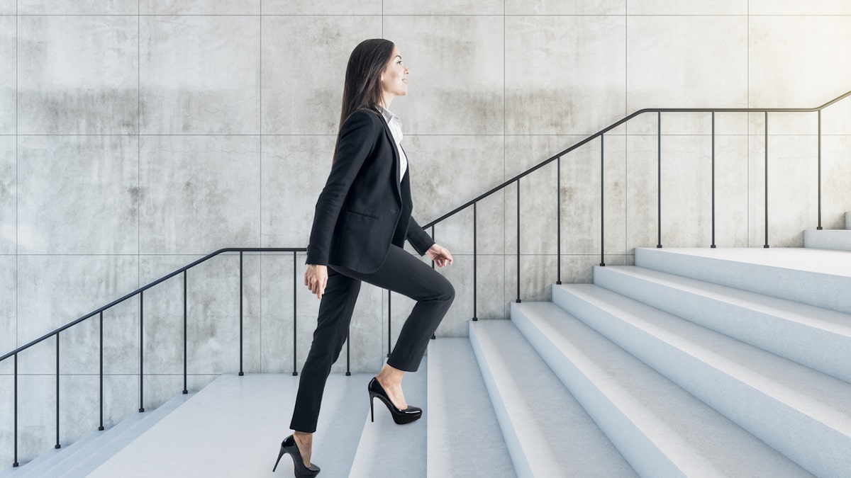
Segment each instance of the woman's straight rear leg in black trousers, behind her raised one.
[{"label": "woman's straight rear leg in black trousers, behind her raised one", "polygon": [[346,342],[360,288],[361,282],[357,279],[328,268],[328,284],[319,304],[319,318],[313,332],[311,350],[307,354],[305,366],[301,368],[299,391],[289,424],[289,428],[296,431],[293,438],[306,466],[310,465],[312,434],[317,429],[328,373]]}]

